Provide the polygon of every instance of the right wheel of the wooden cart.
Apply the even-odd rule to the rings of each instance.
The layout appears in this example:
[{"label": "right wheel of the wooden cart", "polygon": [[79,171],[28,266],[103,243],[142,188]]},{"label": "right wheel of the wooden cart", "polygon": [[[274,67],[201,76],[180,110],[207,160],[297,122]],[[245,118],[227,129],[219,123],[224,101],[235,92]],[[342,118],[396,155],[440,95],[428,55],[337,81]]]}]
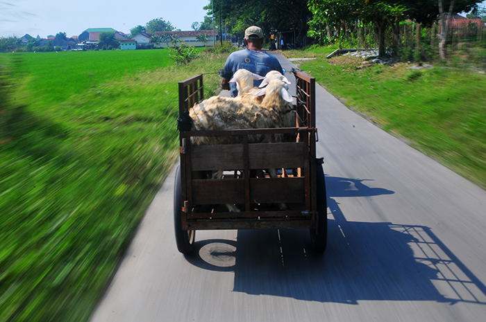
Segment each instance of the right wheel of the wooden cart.
[{"label": "right wheel of the wooden cart", "polygon": [[326,250],[328,237],[328,207],[326,197],[326,181],[324,181],[324,170],[322,165],[316,166],[317,172],[317,229],[310,229],[310,240],[312,248],[317,253]]}]

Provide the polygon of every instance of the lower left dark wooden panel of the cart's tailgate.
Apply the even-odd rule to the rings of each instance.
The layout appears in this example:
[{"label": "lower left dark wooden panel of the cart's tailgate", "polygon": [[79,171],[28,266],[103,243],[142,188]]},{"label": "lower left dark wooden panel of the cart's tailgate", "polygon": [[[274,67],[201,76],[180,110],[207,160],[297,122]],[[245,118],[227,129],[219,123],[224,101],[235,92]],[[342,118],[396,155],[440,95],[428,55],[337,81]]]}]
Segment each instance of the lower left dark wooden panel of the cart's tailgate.
[{"label": "lower left dark wooden panel of the cart's tailgate", "polygon": [[192,180],[192,204],[244,204],[244,181]]}]

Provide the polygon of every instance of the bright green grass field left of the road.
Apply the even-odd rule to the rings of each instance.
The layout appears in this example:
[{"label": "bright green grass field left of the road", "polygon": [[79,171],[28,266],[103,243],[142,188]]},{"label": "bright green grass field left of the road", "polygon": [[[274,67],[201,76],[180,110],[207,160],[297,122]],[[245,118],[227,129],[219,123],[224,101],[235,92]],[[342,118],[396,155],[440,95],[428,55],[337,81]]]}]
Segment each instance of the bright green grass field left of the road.
[{"label": "bright green grass field left of the road", "polygon": [[177,82],[226,59],[79,54],[0,57],[1,322],[89,319],[178,156]]}]

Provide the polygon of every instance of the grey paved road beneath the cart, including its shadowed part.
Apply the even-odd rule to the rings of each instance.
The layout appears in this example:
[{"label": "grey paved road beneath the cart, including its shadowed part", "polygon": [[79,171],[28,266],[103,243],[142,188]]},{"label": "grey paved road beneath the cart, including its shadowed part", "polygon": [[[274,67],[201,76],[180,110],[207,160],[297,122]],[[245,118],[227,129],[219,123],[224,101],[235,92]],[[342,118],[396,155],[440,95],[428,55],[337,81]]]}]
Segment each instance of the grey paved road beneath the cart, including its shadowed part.
[{"label": "grey paved road beneath the cart, including its shadowed part", "polygon": [[173,170],[92,321],[485,321],[485,190],[319,86],[317,127],[324,256],[301,230],[198,231],[181,255]]}]

